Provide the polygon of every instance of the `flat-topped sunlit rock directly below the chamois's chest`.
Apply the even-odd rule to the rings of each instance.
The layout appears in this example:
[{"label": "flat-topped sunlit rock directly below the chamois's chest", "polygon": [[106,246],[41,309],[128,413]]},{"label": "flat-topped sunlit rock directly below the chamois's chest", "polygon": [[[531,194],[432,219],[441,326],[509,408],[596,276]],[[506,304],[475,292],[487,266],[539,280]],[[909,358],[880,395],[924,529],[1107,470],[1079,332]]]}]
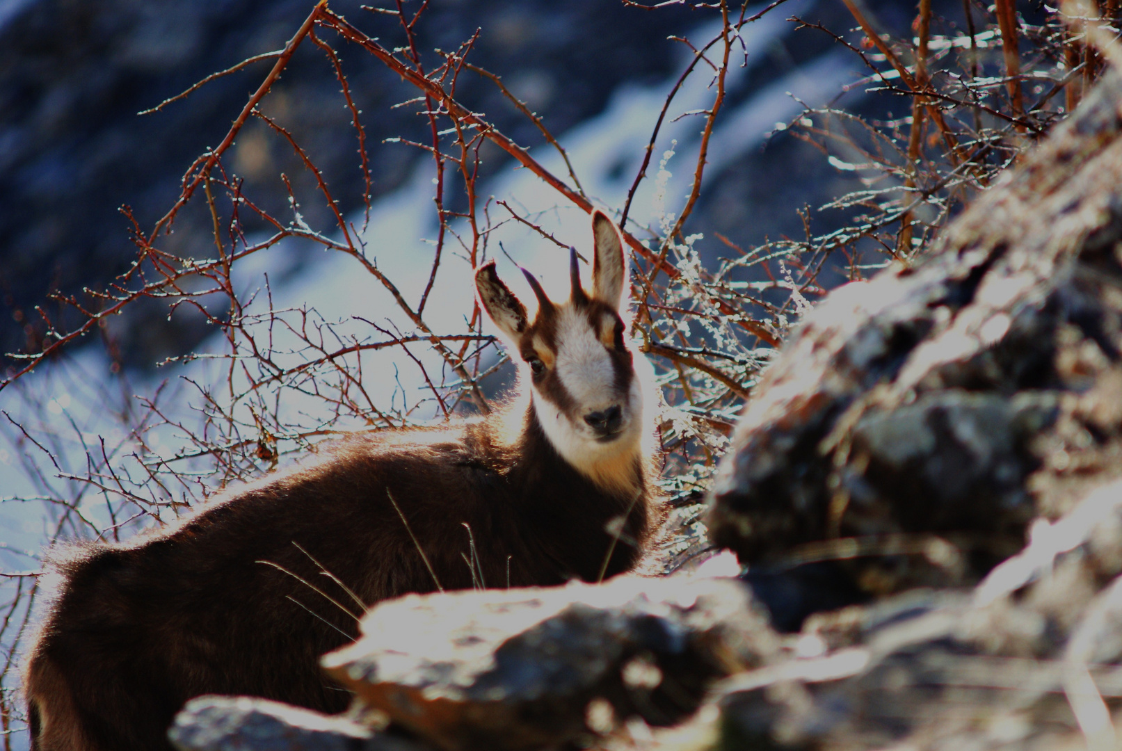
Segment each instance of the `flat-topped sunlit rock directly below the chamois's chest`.
[{"label": "flat-topped sunlit rock directly below the chamois's chest", "polygon": [[735,578],[619,577],[377,604],[329,675],[448,750],[533,749],[638,716],[669,725],[762,665],[774,633]]}]

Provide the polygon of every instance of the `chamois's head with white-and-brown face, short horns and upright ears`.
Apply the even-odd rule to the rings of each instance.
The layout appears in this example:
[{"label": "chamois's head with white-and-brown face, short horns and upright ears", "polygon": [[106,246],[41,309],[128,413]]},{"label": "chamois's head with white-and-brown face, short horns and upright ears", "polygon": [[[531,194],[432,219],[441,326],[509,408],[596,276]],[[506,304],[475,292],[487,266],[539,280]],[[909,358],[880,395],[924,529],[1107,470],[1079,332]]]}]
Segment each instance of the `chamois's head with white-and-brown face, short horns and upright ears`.
[{"label": "chamois's head with white-and-brown face, short horns and upright ears", "polygon": [[644,430],[643,396],[620,315],[627,271],[619,231],[605,214],[592,214],[592,289],[580,281],[577,251],[570,250],[571,294],[564,303],[546,297],[523,273],[537,297],[531,322],[526,308],[495,272],[476,270],[479,302],[495,322],[523,377],[528,377],[537,421],[558,453],[599,484],[629,484],[631,460]]}]

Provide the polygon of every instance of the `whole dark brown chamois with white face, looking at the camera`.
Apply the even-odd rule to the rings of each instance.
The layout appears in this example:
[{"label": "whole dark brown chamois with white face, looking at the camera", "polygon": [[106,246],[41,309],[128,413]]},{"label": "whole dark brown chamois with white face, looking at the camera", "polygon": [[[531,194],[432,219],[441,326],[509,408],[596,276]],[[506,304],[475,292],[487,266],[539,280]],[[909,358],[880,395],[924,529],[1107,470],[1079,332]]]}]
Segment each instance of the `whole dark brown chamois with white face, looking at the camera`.
[{"label": "whole dark brown chamois with white face, looking at the camera", "polygon": [[55,550],[25,660],[33,749],[169,749],[175,712],[201,694],[340,712],[349,695],[319,658],[357,634],[359,605],[633,568],[660,514],[652,430],[624,337],[619,232],[596,212],[592,234],[591,290],[576,250],[564,303],[523,271],[532,322],[494,261],[476,270],[518,364],[505,408],[355,434],[166,528]]}]

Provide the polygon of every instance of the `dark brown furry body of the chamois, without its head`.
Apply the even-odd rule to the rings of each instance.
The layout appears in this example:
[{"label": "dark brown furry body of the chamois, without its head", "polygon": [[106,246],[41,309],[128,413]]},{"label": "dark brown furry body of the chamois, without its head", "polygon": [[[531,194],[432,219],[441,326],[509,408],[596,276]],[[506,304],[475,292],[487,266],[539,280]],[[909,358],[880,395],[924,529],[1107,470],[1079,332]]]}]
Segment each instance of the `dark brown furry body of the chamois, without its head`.
[{"label": "dark brown furry body of the chamois, without its head", "polygon": [[[634,492],[607,494],[561,460],[533,409],[523,414],[511,445],[497,438],[497,417],[357,435],[169,528],[59,556],[63,584],[25,675],[33,747],[167,749],[175,712],[209,693],[344,708],[348,694],[318,660],[357,633],[355,619],[260,562],[353,612],[294,543],[367,605],[435,590],[387,491],[444,588],[473,586],[465,523],[475,578],[489,587],[506,586],[508,575],[512,586],[548,585],[632,568],[655,513],[645,460],[627,458]],[[606,526],[625,513],[616,544]]]}]

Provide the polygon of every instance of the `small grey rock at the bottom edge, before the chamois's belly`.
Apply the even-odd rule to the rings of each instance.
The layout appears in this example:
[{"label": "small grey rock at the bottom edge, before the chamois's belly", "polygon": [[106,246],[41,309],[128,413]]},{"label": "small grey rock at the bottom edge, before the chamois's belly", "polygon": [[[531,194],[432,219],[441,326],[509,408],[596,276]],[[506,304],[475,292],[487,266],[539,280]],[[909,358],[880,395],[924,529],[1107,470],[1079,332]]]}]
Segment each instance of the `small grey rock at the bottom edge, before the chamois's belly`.
[{"label": "small grey rock at the bottom edge, before the chamois's belly", "polygon": [[347,717],[247,696],[191,699],[168,738],[180,751],[424,751]]}]

